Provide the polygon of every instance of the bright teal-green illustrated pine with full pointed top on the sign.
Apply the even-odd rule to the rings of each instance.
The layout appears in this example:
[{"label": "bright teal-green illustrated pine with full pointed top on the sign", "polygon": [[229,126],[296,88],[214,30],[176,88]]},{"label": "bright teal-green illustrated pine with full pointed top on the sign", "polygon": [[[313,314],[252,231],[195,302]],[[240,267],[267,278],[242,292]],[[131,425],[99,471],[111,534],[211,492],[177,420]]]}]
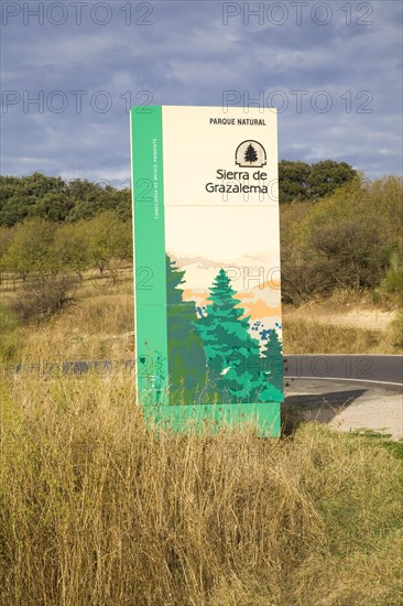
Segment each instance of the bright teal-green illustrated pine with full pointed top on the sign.
[{"label": "bright teal-green illustrated pine with full pointed top on the sign", "polygon": [[259,359],[259,342],[249,333],[249,320],[224,269],[210,288],[211,304],[195,322],[207,358],[209,379],[219,403],[254,402],[265,389]]}]

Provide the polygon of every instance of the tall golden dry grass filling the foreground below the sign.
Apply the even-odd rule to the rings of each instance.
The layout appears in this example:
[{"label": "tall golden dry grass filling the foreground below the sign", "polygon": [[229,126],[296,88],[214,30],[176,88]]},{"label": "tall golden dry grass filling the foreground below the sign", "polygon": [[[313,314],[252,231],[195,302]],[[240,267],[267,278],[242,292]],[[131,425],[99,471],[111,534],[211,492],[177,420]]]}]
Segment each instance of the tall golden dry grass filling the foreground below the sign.
[{"label": "tall golden dry grass filling the foreground below the sign", "polygon": [[305,425],[146,429],[133,377],[8,378],[0,603],[396,606],[402,463]]}]

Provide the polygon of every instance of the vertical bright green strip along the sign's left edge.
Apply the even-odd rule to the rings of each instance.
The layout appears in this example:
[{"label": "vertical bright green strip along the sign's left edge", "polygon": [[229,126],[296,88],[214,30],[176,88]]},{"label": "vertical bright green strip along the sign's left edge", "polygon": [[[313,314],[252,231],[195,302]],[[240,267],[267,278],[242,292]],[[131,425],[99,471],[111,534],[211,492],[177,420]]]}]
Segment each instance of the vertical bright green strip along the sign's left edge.
[{"label": "vertical bright green strip along the sign's left edge", "polygon": [[167,404],[161,107],[131,109],[137,398]]}]

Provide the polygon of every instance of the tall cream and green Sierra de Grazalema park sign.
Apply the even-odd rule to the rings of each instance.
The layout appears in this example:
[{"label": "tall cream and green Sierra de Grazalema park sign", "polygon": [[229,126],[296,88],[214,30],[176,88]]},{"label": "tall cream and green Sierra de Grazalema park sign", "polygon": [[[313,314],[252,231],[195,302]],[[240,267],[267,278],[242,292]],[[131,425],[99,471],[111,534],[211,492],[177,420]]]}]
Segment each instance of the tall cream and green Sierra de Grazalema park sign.
[{"label": "tall cream and green Sierra de Grazalema park sign", "polygon": [[138,403],[279,435],[276,110],[133,107],[131,152]]}]

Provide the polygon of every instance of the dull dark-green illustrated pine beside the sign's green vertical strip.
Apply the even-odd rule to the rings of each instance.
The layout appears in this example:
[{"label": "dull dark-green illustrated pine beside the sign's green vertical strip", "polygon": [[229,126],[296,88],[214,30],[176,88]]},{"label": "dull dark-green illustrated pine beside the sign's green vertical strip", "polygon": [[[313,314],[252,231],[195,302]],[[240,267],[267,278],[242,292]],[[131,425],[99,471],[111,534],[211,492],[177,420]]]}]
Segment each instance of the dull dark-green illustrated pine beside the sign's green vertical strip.
[{"label": "dull dark-green illustrated pine beside the sign's green vertical strip", "polygon": [[185,271],[166,256],[167,350],[170,402],[193,404],[206,378],[202,339],[194,329],[196,307],[183,301]]}]

